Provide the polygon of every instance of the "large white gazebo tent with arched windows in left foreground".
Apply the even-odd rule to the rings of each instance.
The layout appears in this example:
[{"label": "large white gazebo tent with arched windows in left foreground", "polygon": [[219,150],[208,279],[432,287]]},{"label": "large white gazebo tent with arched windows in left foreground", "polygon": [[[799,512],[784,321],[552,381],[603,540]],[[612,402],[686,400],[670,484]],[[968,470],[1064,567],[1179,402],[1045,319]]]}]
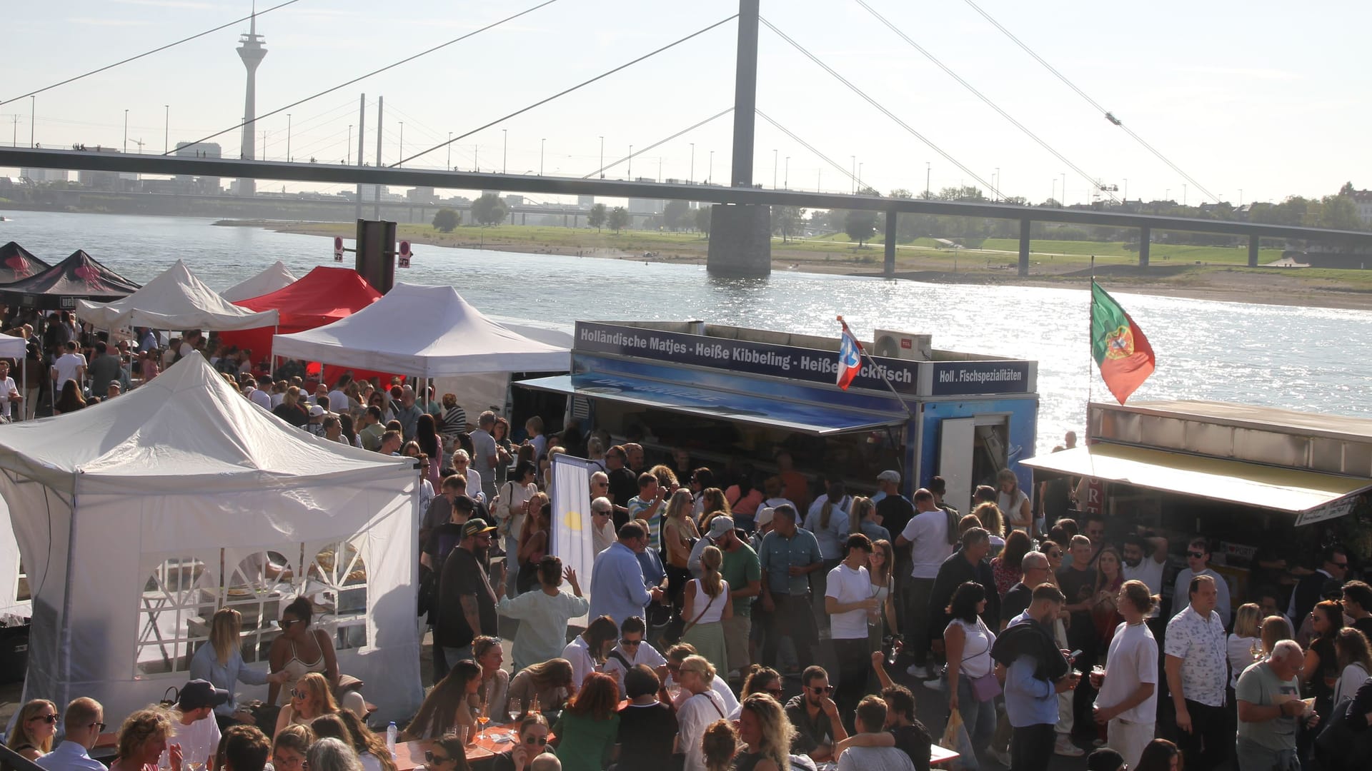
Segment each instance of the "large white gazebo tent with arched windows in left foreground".
[{"label": "large white gazebo tent with arched windows in left foreground", "polygon": [[188,679],[221,606],[243,613],[244,656],[265,668],[274,620],[303,595],[368,701],[412,713],[417,482],[406,461],[285,425],[199,354],[111,402],[0,427],[33,590],[26,698],[89,696],[117,723]]}]

